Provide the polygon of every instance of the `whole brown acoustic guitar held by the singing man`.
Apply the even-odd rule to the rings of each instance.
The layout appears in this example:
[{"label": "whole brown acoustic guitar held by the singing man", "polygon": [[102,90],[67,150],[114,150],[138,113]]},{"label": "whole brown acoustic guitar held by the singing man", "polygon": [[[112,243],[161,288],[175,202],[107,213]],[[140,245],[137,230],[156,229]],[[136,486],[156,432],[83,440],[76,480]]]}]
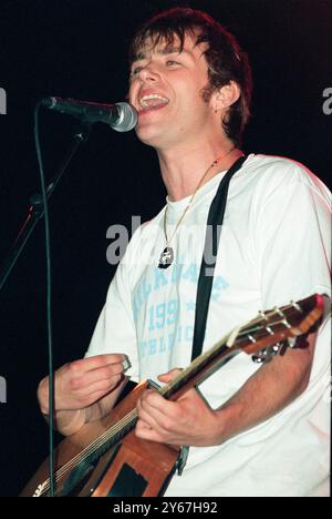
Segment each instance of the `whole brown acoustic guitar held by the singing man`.
[{"label": "whole brown acoustic guitar held by the singing man", "polygon": [[[160,388],[149,380],[137,385],[110,416],[86,424],[55,449],[55,496],[164,495],[175,471],[181,472],[188,449],[146,441],[135,436],[136,403],[142,393],[153,387],[164,398],[176,400],[240,352],[257,354],[253,359],[264,363],[273,355],[283,355],[288,347],[303,347],[305,340],[299,340],[299,337],[305,338],[320,325],[326,306],[326,297],[314,294],[297,303],[261,312],[197,357],[166,386]],[[21,496],[50,496],[48,460]]]}]

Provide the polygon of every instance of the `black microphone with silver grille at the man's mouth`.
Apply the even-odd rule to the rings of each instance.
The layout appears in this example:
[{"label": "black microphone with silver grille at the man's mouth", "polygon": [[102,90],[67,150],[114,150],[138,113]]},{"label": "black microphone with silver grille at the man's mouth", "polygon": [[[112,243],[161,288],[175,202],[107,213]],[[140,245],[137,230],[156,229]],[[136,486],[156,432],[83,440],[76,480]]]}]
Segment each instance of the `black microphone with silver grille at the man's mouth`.
[{"label": "black microphone with silver grille at the man's mouth", "polygon": [[128,103],[98,104],[75,99],[45,98],[42,105],[73,115],[89,124],[104,122],[117,132],[128,132],[136,126],[137,112]]}]

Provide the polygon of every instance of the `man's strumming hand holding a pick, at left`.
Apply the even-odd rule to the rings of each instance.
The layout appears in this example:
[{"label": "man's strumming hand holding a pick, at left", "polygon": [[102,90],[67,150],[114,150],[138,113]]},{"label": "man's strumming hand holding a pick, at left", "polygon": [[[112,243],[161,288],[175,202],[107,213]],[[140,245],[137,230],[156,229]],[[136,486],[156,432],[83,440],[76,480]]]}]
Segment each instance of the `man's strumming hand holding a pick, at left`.
[{"label": "man's strumming hand holding a pick, at left", "polygon": [[[124,378],[125,355],[110,354],[65,364],[54,376],[55,413],[92,406],[112,393]],[[38,398],[43,415],[49,414],[49,377],[41,380]]]}]

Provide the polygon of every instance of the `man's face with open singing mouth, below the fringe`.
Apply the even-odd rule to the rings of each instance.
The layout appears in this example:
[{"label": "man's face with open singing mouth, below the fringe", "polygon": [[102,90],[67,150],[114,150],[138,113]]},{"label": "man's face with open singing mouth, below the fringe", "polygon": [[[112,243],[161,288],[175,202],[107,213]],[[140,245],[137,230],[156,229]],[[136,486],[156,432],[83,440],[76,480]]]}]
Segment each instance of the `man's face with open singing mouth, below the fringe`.
[{"label": "man's face with open singing mouth, below the fringe", "polygon": [[208,131],[211,101],[203,99],[208,84],[204,44],[195,45],[187,35],[179,52],[175,38],[172,48],[146,41],[132,64],[129,102],[138,111],[136,133],[141,141],[159,150],[189,143]]}]

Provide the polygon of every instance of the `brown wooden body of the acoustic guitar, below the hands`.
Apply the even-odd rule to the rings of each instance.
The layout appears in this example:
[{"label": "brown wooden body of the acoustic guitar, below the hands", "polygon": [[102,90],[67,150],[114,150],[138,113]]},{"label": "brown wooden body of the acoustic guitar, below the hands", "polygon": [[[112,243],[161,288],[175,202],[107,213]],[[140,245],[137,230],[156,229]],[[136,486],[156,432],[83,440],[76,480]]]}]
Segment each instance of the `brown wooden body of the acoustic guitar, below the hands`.
[{"label": "brown wooden body of the acoustic guitar, below the hands", "polygon": [[[65,438],[54,450],[56,496],[157,496],[162,495],[173,475],[179,449],[141,440],[134,430],[115,442],[93,464],[74,464],[82,452],[98,441],[103,435],[136,408],[137,399],[148,387],[144,381],[136,386],[110,416],[86,424],[76,434]],[[126,484],[124,485],[124,480]],[[49,496],[49,462],[45,460],[23,489],[21,497]]]}]

